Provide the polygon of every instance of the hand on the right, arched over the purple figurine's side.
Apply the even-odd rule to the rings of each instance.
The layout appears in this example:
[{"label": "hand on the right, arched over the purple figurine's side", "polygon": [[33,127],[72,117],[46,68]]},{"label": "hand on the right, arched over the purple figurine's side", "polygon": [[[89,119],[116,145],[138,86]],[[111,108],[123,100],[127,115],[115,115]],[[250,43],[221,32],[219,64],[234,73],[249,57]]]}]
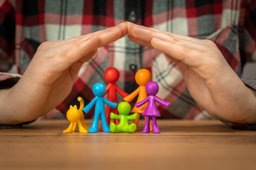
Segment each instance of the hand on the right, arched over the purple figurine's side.
[{"label": "hand on the right, arched over the purple figurine's side", "polygon": [[229,66],[216,44],[127,23],[132,42],[157,49],[177,63],[189,93],[218,119],[256,123],[256,93]]}]

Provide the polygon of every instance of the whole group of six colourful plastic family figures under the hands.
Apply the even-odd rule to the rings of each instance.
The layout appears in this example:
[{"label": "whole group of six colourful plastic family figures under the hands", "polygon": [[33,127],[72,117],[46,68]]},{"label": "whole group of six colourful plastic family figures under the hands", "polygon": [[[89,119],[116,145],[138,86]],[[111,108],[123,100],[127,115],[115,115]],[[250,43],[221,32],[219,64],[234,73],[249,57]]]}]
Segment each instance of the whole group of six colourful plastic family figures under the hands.
[{"label": "whole group of six colourful plastic family figures under the hands", "polygon": [[[104,78],[108,82],[105,87],[102,83],[96,83],[92,87],[92,92],[95,97],[85,107],[83,99],[78,97],[80,102],[80,108],[75,105],[70,106],[67,111],[67,119],[70,121],[70,126],[63,132],[72,132],[76,130],[76,126],[79,126],[79,132],[81,133],[94,133],[98,132],[98,120],[101,115],[101,127],[99,130],[103,132],[135,132],[138,130],[139,117],[142,114],[145,116],[145,126],[142,130],[143,133],[153,131],[153,133],[160,133],[157,126],[156,117],[161,116],[157,110],[156,102],[164,107],[170,105],[169,102],[165,102],[156,94],[159,91],[159,86],[156,82],[151,81],[151,73],[147,69],[140,69],[135,74],[135,81],[139,87],[133,91],[130,95],[125,93],[116,85],[119,79],[119,71],[117,68],[110,67],[104,72]],[[117,93],[119,93],[125,102],[118,104]],[[108,94],[108,99],[104,96]],[[132,115],[130,113],[131,107],[129,102],[138,95],[137,102],[132,109]],[[95,104],[94,118],[92,125],[89,128],[84,121],[83,111],[88,113]],[[106,112],[104,108],[106,104]],[[113,112],[112,112],[113,110]],[[119,115],[120,114],[120,115]],[[152,123],[150,124],[150,117],[152,117]],[[110,119],[114,119],[114,122],[110,123]],[[132,124],[129,124],[129,120],[134,120]]]}]

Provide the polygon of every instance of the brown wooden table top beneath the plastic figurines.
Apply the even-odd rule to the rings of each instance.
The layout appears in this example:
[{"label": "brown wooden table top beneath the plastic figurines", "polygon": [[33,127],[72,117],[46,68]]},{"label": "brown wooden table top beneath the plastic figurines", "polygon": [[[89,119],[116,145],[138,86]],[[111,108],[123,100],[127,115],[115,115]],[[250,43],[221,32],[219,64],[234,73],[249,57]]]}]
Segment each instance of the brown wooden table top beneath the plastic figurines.
[{"label": "brown wooden table top beneath the plastic figurines", "polygon": [[[256,131],[220,121],[158,120],[160,134],[62,133],[67,120],[0,130],[0,170],[254,170]],[[90,126],[91,120],[86,120]]]}]

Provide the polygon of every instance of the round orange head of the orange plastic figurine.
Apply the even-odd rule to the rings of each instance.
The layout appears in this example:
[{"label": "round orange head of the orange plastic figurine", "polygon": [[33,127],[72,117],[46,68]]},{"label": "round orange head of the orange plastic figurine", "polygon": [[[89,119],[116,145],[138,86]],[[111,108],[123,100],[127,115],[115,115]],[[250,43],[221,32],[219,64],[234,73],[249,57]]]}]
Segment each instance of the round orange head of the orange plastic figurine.
[{"label": "round orange head of the orange plastic figurine", "polygon": [[139,86],[146,86],[151,81],[151,73],[145,68],[139,69],[135,74],[135,81]]}]

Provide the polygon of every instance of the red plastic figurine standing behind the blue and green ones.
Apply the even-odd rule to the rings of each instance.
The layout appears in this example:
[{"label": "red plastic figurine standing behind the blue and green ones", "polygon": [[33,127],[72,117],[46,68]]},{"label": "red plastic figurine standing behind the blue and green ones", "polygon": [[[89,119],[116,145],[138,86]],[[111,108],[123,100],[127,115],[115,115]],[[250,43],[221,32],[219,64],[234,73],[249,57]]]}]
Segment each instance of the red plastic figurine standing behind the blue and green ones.
[{"label": "red plastic figurine standing behind the blue and green ones", "polygon": [[[117,93],[119,93],[122,97],[126,97],[128,94],[125,93],[121,88],[119,88],[116,84],[116,82],[119,79],[119,71],[117,68],[109,67],[104,72],[104,78],[108,82],[108,85],[106,86],[106,93],[103,95],[105,96],[108,94],[108,100],[110,102],[118,103],[117,100]],[[106,119],[108,122],[108,125],[110,125],[110,113],[113,112],[116,115],[119,115],[117,108],[112,109],[110,106],[106,106]],[[118,119],[114,119],[115,124],[119,124]],[[99,130],[102,130],[102,125],[99,128]]]}]

